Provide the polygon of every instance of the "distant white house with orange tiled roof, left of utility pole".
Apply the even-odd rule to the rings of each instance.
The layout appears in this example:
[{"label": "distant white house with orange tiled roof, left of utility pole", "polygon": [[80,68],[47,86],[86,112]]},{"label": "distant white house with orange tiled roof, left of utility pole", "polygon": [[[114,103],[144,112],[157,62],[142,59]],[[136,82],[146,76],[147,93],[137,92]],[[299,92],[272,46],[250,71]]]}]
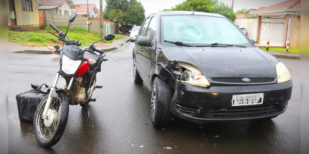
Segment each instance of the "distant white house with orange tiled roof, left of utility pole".
[{"label": "distant white house with orange tiled roof, left of utility pole", "polygon": [[[87,4],[76,4],[76,14],[78,17],[87,16]],[[73,10],[72,10],[73,11]],[[89,18],[95,18],[99,11],[95,4],[88,4]]]}]

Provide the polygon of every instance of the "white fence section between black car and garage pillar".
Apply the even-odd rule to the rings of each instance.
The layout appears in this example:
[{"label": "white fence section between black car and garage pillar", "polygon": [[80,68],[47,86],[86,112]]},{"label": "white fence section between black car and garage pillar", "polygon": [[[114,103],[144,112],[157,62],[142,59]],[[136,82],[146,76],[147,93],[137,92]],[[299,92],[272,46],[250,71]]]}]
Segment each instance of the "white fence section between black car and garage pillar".
[{"label": "white fence section between black car and garage pillar", "polygon": [[249,38],[256,39],[257,19],[235,19],[234,23],[240,28],[246,28]]}]

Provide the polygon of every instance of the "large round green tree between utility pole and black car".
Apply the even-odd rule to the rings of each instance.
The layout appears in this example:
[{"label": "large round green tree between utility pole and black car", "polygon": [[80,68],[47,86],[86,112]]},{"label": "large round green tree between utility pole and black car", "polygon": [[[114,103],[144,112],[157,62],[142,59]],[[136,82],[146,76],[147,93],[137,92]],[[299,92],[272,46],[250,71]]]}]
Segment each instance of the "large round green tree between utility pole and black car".
[{"label": "large round green tree between utility pole and black car", "polygon": [[137,0],[105,0],[104,19],[118,21],[125,34],[128,24],[141,25],[145,20],[145,9]]}]

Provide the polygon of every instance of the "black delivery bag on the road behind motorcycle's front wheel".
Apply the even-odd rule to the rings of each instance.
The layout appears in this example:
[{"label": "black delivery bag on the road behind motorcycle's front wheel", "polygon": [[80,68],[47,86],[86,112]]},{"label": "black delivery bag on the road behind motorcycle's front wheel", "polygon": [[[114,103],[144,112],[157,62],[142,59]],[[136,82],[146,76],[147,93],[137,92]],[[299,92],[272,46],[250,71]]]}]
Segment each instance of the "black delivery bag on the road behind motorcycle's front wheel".
[{"label": "black delivery bag on the road behind motorcycle's front wheel", "polygon": [[19,120],[22,122],[33,123],[34,114],[39,103],[49,95],[50,89],[46,84],[33,85],[31,84],[30,91],[16,95]]}]

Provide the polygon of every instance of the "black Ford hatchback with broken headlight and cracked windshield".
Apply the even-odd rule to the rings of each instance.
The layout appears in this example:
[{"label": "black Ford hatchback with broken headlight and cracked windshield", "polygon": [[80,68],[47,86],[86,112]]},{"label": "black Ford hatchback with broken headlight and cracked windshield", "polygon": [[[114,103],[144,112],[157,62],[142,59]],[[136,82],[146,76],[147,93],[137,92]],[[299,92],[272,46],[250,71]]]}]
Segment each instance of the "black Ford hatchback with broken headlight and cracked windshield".
[{"label": "black Ford hatchback with broken headlight and cracked windshield", "polygon": [[202,124],[286,111],[290,73],[254,43],[219,14],[149,15],[133,48],[133,77],[151,90],[153,125],[167,126],[171,114]]}]

